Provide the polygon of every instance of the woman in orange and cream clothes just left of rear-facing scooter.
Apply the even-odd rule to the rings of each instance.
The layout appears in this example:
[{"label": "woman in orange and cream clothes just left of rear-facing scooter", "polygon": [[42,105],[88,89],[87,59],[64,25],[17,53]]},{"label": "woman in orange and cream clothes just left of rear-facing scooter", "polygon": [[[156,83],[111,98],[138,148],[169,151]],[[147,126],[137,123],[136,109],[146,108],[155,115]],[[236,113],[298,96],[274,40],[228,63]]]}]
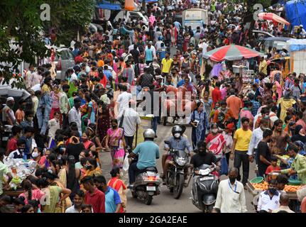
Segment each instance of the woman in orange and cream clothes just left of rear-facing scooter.
[{"label": "woman in orange and cream clothes just left of rear-facing scooter", "polygon": [[125,213],[126,212],[126,185],[124,184],[124,182],[120,179],[121,178],[121,168],[119,167],[114,167],[111,170],[111,179],[109,179],[109,182],[107,183],[107,186],[115,189],[120,196],[121,199],[121,209],[120,209],[120,213]]}]

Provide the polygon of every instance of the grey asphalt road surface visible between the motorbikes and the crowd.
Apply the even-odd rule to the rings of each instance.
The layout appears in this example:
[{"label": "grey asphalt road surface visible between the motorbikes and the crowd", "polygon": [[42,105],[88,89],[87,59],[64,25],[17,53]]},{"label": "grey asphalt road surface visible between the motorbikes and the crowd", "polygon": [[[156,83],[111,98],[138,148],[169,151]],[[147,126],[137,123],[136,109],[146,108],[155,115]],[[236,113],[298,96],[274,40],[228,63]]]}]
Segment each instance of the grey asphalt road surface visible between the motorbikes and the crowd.
[{"label": "grey asphalt road surface visible between the motorbikes and the crowd", "polygon": [[[171,133],[172,126],[168,124],[167,126],[158,125],[158,138],[155,139],[155,143],[160,147],[160,157],[163,155],[163,141],[168,138]],[[188,138],[191,138],[191,127],[187,127],[185,134]],[[111,155],[110,153],[102,153],[101,154],[101,161],[102,161],[102,171],[104,172],[104,176],[108,180],[110,178],[109,172],[111,170]],[[230,166],[233,165],[233,162],[230,162]],[[250,177],[252,179],[255,177],[254,173],[255,165],[251,163],[250,165]],[[162,165],[161,165],[161,158],[157,160],[157,168],[158,172],[162,172]],[[242,168],[241,168],[242,169]],[[242,171],[242,170],[241,170]],[[242,172],[241,172],[242,175]],[[222,179],[225,179],[226,176],[222,176]],[[147,206],[143,203],[143,201],[139,199],[133,199],[131,196],[131,192],[128,192],[128,201],[127,201],[127,211],[129,213],[197,213],[201,212],[197,209],[196,206],[192,204],[191,201],[191,182],[189,187],[184,188],[182,192],[182,196],[180,199],[173,199],[172,194],[169,192],[168,188],[160,184],[160,194],[158,196],[153,196],[153,202],[150,206]],[[255,212],[253,209],[253,205],[251,201],[253,201],[253,196],[248,192],[246,192],[246,206],[248,212]]]}]

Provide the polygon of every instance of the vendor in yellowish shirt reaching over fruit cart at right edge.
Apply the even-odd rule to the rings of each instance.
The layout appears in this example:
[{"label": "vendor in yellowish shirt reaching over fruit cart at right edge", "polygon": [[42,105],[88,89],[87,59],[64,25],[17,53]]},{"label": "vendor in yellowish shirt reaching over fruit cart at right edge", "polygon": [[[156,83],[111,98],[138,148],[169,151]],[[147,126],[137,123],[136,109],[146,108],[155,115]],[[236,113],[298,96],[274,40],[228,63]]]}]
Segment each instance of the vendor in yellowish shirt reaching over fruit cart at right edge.
[{"label": "vendor in yellowish shirt reaching over fruit cart at right edge", "polygon": [[306,184],[306,157],[298,154],[298,149],[295,145],[288,146],[288,155],[293,157],[293,163],[290,169],[274,170],[273,172],[280,172],[282,174],[296,175],[302,184]]}]

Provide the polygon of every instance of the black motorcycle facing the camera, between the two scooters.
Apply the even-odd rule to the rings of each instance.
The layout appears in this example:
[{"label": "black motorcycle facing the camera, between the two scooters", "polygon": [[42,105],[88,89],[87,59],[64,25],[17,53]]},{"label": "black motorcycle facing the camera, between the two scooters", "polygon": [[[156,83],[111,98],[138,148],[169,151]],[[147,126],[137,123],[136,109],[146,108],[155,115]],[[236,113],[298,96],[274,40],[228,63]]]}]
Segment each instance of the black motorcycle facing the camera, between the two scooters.
[{"label": "black motorcycle facing the camera, between the two scooters", "polygon": [[170,192],[173,192],[173,197],[180,199],[185,183],[184,170],[189,162],[188,154],[184,150],[174,150],[167,140],[164,143],[170,146],[169,153],[173,156],[173,161],[169,162],[165,183]]}]

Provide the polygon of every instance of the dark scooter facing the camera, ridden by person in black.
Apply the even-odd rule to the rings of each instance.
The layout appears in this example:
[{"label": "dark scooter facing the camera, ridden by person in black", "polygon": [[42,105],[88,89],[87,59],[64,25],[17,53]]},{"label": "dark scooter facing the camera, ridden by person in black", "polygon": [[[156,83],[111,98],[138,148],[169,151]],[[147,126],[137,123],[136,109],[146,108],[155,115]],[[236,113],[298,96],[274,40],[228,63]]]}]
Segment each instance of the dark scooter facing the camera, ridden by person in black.
[{"label": "dark scooter facing the camera, ridden by person in black", "polygon": [[[221,158],[217,158],[219,162]],[[201,165],[192,172],[192,204],[204,213],[210,213],[217,199],[218,179],[212,172],[216,170],[217,165]]]}]

